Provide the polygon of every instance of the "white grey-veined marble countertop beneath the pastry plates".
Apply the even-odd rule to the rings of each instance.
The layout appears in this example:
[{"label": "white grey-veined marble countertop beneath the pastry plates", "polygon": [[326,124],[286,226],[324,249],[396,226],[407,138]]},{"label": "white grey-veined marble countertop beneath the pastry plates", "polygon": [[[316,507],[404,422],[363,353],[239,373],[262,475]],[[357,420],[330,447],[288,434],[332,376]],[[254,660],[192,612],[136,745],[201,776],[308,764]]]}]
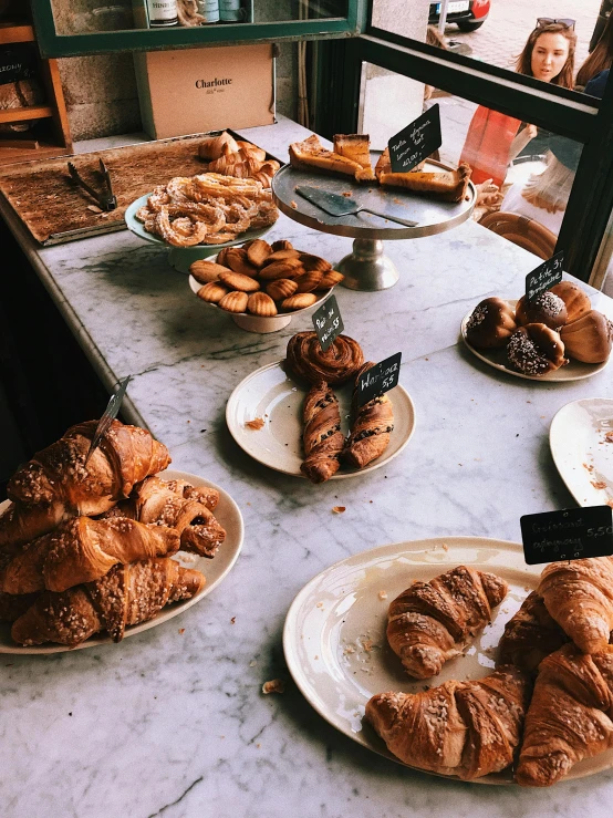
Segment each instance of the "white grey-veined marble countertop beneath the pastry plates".
[{"label": "white grey-veined marble countertop beneath the pastry plates", "polygon": [[[245,133],[283,158],[301,132],[283,121]],[[388,467],[313,487],[250,460],[224,414],[233,387],[283,358],[309,317],[277,334],[246,333],[191,294],[165,251],[127,232],[34,251],[13,229],[104,381],[134,375],[133,416],[169,446],[174,467],[230,493],[247,536],[224,584],[160,628],[117,646],[0,659],[4,818],[610,815],[613,772],[527,791],[381,758],[330,727],[283,662],[290,602],[333,562],[420,537],[519,541],[521,515],[573,505],[549,424],[570,401],[613,397],[611,371],[533,383],[497,373],[458,342],[480,299],[521,294],[534,257],[469,222],[387,242],[401,269],[392,290],[336,291],[346,333],[368,358],[402,350],[417,426]],[[283,216],[269,237],[333,261],[351,247]],[[595,294],[594,306],[613,317],[610,299]],[[337,505],[346,511],[333,514]],[[262,695],[274,677],[287,692]]]}]

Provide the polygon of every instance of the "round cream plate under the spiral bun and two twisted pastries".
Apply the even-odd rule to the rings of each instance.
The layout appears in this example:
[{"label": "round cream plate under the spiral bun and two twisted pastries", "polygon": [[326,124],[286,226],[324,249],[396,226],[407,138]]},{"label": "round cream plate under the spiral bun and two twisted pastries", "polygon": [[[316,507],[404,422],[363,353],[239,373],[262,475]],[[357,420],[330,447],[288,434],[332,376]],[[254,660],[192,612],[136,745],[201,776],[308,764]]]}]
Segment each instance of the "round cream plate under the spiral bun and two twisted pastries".
[{"label": "round cream plate under the spiral bun and two twisted pastries", "polygon": [[[226,422],[235,441],[254,460],[277,472],[304,477],[300,465],[303,460],[302,404],[306,389],[285,374],[282,363],[269,363],[239,383],[226,406]],[[334,393],[341,406],[341,428],[346,434],[352,385],[334,387]],[[362,469],[341,467],[331,479],[356,477],[381,468],[406,446],[415,428],[413,401],[399,384],[387,396],[394,407],[394,431],[383,455]],[[263,427],[249,428],[246,423],[257,417],[263,420]]]}]

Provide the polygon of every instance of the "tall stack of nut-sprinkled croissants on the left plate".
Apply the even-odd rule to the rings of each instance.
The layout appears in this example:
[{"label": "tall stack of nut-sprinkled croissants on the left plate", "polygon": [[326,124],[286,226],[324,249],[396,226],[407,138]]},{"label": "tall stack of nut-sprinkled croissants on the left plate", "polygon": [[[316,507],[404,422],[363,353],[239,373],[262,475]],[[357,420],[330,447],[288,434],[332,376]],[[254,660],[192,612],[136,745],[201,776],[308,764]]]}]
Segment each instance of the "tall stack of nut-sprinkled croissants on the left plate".
[{"label": "tall stack of nut-sprinkled croissants on the left plate", "polygon": [[0,622],[21,645],[75,646],[127,625],[205,586],[179,549],[214,557],[226,531],[216,489],[157,473],[170,463],[148,432],[113,421],[90,447],[97,423],[72,426],[9,480],[0,517]]}]

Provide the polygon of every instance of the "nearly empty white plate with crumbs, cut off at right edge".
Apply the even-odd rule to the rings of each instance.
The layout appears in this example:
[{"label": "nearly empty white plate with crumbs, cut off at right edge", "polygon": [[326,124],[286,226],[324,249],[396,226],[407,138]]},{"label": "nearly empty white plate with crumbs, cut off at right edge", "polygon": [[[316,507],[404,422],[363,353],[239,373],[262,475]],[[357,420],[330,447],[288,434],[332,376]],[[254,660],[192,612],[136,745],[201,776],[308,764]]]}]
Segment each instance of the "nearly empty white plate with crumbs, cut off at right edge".
[{"label": "nearly empty white plate with crumbs, cut off at right edge", "polygon": [[580,506],[613,506],[613,400],[588,397],[562,406],[551,422],[549,445]]}]

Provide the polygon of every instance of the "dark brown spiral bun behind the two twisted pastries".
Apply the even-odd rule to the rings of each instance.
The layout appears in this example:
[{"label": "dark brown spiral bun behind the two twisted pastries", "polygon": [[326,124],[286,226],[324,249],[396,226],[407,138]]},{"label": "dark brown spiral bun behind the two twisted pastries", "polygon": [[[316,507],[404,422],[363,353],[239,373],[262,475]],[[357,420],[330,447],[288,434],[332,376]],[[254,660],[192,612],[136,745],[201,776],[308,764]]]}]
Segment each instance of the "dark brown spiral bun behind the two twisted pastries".
[{"label": "dark brown spiral bun behind the two twisted pastries", "polygon": [[298,332],[288,341],[288,374],[308,383],[337,386],[354,377],[363,363],[362,348],[349,335],[339,335],[325,352],[316,332]]}]

